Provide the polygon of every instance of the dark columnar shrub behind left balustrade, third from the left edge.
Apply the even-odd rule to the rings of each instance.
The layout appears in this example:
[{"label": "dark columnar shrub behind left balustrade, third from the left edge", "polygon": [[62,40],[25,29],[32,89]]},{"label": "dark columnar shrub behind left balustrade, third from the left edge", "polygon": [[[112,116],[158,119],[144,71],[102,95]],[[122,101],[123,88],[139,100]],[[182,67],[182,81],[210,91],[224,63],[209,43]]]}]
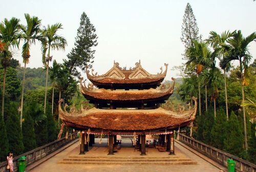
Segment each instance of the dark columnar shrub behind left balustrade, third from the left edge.
[{"label": "dark columnar shrub behind left balustrade, third from the left edge", "polygon": [[24,122],[22,124],[23,133],[23,144],[24,151],[28,152],[36,148],[35,131],[34,131],[34,121],[30,116],[30,112],[26,111],[24,116]]}]

